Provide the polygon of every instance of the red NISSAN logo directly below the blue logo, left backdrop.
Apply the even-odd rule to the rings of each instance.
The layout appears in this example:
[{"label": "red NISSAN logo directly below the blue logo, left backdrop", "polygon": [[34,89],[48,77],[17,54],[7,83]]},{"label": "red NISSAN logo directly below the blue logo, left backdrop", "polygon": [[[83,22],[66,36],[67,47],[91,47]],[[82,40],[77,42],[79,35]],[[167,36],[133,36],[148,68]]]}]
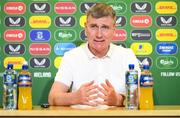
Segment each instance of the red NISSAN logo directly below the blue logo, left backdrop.
[{"label": "red NISSAN logo directly below the blue logo, left backdrop", "polygon": [[31,55],[49,55],[51,46],[48,43],[32,43],[29,52]]}]

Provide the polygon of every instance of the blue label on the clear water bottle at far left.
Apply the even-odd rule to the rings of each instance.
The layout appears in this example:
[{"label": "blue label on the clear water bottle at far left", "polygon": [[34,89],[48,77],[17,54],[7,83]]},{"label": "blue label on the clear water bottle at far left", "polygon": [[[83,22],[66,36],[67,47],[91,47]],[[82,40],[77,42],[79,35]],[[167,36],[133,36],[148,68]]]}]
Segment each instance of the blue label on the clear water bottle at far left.
[{"label": "blue label on the clear water bottle at far left", "polygon": [[16,75],[15,74],[4,74],[4,84],[7,86],[12,86],[16,84]]}]

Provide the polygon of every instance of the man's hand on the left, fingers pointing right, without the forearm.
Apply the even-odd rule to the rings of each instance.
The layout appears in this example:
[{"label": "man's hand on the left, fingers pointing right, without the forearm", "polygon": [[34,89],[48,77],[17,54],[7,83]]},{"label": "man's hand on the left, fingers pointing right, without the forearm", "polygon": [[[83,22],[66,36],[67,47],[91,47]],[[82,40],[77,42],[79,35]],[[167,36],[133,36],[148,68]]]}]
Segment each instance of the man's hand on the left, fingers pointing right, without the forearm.
[{"label": "man's hand on the left, fingers pointing right, without the forearm", "polygon": [[77,104],[84,104],[90,106],[96,106],[95,102],[90,102],[97,99],[98,86],[94,85],[94,81],[81,85],[79,90],[76,92]]}]

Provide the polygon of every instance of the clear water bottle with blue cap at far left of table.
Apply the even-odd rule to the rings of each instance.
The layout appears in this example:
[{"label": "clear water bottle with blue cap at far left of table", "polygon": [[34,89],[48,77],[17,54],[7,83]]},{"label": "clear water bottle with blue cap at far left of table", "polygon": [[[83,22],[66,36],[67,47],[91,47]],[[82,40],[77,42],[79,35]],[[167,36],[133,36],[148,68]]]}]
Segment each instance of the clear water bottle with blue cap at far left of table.
[{"label": "clear water bottle with blue cap at far left of table", "polygon": [[3,109],[17,109],[17,72],[8,64],[3,75]]}]

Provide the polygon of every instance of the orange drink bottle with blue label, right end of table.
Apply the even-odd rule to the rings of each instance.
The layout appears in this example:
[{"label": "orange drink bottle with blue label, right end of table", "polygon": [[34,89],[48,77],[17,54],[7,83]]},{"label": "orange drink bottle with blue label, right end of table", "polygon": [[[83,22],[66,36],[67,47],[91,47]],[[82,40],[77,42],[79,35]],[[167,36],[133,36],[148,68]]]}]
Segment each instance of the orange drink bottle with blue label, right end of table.
[{"label": "orange drink bottle with blue label, right end of table", "polygon": [[140,77],[140,109],[152,110],[154,109],[153,102],[153,77],[149,71],[149,65],[143,66],[143,71]]}]

